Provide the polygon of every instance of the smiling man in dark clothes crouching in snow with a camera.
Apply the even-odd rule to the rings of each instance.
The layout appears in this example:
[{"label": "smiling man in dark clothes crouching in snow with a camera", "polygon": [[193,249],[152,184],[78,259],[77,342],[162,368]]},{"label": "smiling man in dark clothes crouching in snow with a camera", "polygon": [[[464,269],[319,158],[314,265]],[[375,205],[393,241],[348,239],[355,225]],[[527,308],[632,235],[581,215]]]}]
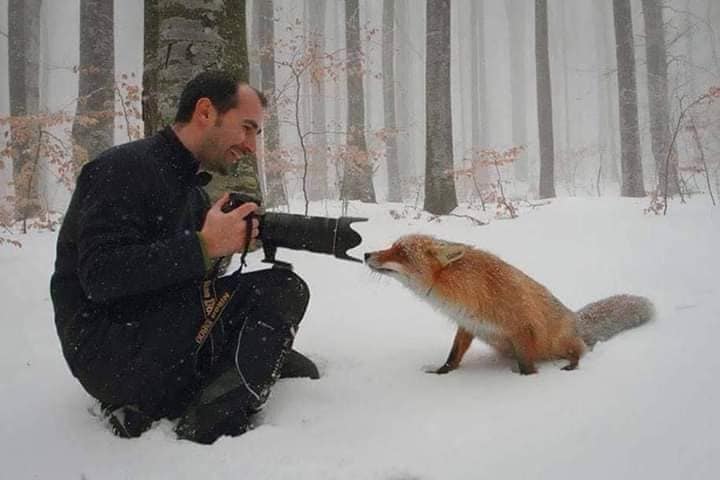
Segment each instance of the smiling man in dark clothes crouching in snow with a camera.
[{"label": "smiling man in dark clothes crouching in snow with a camera", "polygon": [[180,438],[212,443],[249,428],[283,371],[317,378],[288,355],[309,298],[302,279],[214,278],[214,259],[258,236],[257,206],[225,213],[225,194],[209,208],[197,172],[224,174],[254,153],[265,103],[225,73],[202,73],[172,127],[111,148],[78,177],[50,285],[55,323],[73,375],[121,436],[179,417]]}]

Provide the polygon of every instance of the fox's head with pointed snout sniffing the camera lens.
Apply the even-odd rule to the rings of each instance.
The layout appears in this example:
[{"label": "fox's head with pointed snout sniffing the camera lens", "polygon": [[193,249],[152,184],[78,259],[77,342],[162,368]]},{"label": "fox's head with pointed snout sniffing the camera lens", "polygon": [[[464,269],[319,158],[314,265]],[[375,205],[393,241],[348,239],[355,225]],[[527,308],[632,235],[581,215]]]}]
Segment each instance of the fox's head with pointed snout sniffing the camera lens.
[{"label": "fox's head with pointed snout sniffing the camera lens", "polygon": [[407,235],[385,250],[365,254],[365,263],[376,272],[395,275],[412,283],[432,284],[435,274],[465,255],[469,247],[428,235]]}]

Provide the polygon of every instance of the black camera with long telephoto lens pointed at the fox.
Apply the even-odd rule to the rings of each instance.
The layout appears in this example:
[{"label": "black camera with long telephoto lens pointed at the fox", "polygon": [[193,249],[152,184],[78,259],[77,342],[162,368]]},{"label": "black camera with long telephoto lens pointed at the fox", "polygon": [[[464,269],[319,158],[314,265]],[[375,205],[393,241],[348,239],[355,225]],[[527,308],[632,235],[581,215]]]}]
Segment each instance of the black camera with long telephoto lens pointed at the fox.
[{"label": "black camera with long telephoto lens pointed at the fox", "polygon": [[[223,212],[230,212],[243,203],[260,202],[242,193],[230,193],[230,199],[222,206]],[[275,259],[279,247],[293,250],[307,250],[314,253],[334,255],[336,258],[362,263],[359,258],[351,257],[347,250],[362,242],[362,237],[350,228],[353,222],[364,222],[360,217],[311,217],[292,213],[265,212],[247,217],[257,218],[260,241],[266,263],[290,267],[290,264]],[[290,267],[291,268],[291,267]]]}]

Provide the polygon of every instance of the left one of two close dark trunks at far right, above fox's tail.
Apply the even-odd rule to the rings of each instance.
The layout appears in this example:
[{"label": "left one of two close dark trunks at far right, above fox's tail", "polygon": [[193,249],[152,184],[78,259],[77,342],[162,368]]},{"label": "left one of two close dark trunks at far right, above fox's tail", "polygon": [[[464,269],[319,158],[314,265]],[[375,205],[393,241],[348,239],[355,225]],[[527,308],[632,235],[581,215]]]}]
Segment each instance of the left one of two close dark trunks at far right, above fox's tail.
[{"label": "left one of two close dark trunks at far right, above fox's tail", "polygon": [[635,50],[630,0],[613,0],[615,53],[618,65],[618,97],[620,105],[620,150],[624,197],[644,197],[640,129],[635,81]]}]

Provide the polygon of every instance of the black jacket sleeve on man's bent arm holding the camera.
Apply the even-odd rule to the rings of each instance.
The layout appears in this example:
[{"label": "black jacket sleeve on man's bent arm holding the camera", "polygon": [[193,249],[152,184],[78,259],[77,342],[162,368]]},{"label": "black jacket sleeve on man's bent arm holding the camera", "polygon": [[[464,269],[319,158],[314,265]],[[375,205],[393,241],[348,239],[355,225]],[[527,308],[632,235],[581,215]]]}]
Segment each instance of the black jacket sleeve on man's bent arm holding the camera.
[{"label": "black jacket sleeve on man's bent arm holding the camera", "polygon": [[111,302],[201,279],[205,262],[198,235],[188,230],[149,241],[156,214],[149,204],[158,193],[141,172],[108,163],[86,166],[76,187],[83,192],[78,276],[88,299]]}]

